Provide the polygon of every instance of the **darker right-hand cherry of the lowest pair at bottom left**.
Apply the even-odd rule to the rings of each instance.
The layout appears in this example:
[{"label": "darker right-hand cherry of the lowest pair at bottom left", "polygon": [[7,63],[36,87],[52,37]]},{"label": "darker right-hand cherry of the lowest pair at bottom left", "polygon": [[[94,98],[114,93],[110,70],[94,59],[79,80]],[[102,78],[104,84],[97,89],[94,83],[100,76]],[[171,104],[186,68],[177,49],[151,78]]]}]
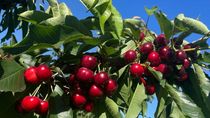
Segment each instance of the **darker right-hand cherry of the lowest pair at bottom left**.
[{"label": "darker right-hand cherry of the lowest pair at bottom left", "polygon": [[36,109],[36,113],[40,115],[47,114],[49,109],[49,103],[48,101],[41,101],[39,107]]}]

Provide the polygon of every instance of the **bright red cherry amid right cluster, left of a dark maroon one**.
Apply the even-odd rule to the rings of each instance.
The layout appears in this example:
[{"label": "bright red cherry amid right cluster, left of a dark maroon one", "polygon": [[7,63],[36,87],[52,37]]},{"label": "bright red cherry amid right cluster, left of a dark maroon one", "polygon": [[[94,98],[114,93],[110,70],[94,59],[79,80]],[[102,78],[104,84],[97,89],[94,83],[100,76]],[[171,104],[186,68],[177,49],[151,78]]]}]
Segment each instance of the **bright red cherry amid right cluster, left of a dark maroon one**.
[{"label": "bright red cherry amid right cluster, left of a dark maroon one", "polygon": [[151,53],[149,53],[147,61],[150,62],[151,66],[158,66],[161,62],[160,56],[156,51],[152,51]]}]

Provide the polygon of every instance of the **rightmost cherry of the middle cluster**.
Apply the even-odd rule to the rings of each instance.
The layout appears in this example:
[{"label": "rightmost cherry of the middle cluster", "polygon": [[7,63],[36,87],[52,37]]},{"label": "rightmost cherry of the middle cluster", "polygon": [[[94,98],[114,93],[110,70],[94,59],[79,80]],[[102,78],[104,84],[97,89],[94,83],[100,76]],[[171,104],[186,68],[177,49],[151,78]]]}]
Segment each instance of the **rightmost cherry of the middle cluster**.
[{"label": "rightmost cherry of the middle cluster", "polygon": [[105,86],[105,92],[108,96],[113,95],[113,93],[117,90],[118,85],[117,82],[113,79],[109,79],[106,86]]}]

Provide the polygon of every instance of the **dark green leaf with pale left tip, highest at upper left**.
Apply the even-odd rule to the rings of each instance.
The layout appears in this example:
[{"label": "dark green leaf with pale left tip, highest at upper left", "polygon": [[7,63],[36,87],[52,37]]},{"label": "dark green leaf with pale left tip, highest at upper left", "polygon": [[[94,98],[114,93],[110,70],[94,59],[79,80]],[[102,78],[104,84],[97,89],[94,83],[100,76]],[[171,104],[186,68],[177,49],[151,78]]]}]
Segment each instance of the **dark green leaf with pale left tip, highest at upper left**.
[{"label": "dark green leaf with pale left tip, highest at upper left", "polygon": [[19,15],[20,20],[24,20],[33,24],[38,24],[52,16],[41,11],[25,11]]}]

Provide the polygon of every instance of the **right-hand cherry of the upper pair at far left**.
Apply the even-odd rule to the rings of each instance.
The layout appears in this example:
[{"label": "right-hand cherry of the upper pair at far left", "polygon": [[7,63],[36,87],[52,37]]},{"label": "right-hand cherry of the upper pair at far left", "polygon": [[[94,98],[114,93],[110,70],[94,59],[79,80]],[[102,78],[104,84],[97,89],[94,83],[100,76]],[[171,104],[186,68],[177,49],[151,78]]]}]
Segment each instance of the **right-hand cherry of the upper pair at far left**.
[{"label": "right-hand cherry of the upper pair at far left", "polygon": [[42,79],[44,81],[47,81],[47,80],[49,80],[52,77],[52,71],[45,64],[39,65],[36,68],[36,72],[37,72],[38,78],[40,78],[40,79]]}]

